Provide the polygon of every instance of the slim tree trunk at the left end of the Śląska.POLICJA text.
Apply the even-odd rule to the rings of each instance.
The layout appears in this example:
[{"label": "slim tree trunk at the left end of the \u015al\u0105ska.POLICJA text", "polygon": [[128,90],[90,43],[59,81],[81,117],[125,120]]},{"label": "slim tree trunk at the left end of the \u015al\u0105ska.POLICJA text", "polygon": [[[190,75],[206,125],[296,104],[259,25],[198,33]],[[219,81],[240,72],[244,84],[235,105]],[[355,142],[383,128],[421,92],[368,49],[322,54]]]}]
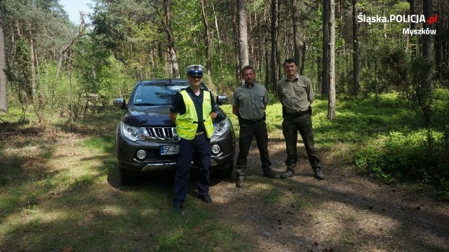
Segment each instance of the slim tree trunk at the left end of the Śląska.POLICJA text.
[{"label": "slim tree trunk at the left end of the \u015al\u0105ska.POLICJA text", "polygon": [[352,0],[352,94],[357,96],[360,89],[360,61],[358,60],[357,0]]}]

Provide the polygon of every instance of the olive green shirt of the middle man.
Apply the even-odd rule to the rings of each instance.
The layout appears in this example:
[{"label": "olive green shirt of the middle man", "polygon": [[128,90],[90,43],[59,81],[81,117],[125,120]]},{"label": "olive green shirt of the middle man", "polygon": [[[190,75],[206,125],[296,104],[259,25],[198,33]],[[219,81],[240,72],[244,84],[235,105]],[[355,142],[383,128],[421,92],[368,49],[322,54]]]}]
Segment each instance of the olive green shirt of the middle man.
[{"label": "olive green shirt of the middle man", "polygon": [[230,104],[239,108],[239,115],[247,120],[260,120],[264,117],[265,107],[269,96],[267,89],[260,84],[254,83],[249,88],[246,84],[234,90]]}]

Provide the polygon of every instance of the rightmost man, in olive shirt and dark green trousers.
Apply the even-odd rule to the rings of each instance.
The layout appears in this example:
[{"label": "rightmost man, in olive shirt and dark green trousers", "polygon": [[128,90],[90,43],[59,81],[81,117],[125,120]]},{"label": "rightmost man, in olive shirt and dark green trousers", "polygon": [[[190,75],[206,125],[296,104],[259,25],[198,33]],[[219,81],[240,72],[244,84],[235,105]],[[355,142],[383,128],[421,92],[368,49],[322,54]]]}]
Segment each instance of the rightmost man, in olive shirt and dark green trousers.
[{"label": "rightmost man, in olive shirt and dark green trousers", "polygon": [[311,168],[316,179],[324,179],[321,162],[314,146],[314,130],[311,125],[311,103],[314,102],[314,90],[309,78],[297,73],[295,59],[286,59],[283,64],[286,78],[279,80],[277,94],[282,104],[282,132],[286,139],[286,172],[281,179],[295,174],[297,163],[297,132],[300,132]]}]

